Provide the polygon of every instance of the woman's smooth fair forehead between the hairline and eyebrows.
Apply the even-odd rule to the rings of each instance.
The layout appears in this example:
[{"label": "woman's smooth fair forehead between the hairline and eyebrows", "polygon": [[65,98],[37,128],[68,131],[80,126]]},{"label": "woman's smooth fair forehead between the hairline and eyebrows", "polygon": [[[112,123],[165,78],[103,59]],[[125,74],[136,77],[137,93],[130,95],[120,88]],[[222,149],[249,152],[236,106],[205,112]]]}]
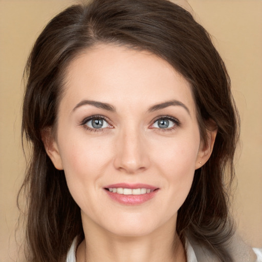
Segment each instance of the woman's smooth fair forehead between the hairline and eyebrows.
[{"label": "woman's smooth fair forehead between the hairline and eyebrows", "polygon": [[194,111],[190,84],[167,61],[116,45],[95,46],[70,63],[63,100],[81,99],[140,107],[179,99]]}]

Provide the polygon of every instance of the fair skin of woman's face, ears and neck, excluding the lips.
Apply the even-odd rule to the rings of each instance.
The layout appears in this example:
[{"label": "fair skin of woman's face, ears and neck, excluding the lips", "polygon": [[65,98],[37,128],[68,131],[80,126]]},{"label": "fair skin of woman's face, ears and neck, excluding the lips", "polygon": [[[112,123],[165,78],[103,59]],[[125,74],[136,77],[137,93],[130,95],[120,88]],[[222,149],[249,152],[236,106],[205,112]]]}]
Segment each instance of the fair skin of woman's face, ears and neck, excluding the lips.
[{"label": "fair skin of woman's face, ears and neck, excluding the lips", "polygon": [[[177,103],[152,110],[171,100]],[[106,119],[103,128],[84,122],[96,115]],[[174,121],[160,128],[157,118],[166,116]],[[85,241],[77,261],[186,261],[175,230],[177,212],[214,139],[209,131],[207,145],[201,142],[190,85],[165,60],[114,45],[80,54],[67,71],[56,136],[43,135],[81,209]],[[104,189],[116,183],[159,189],[143,204],[124,205]]]}]

